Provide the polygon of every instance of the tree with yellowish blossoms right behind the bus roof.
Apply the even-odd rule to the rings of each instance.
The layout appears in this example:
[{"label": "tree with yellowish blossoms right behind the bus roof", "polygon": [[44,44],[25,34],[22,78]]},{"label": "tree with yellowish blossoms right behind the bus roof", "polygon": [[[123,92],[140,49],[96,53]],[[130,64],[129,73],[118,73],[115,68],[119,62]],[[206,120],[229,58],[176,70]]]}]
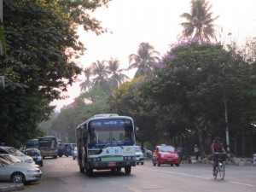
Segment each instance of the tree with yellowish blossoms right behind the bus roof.
[{"label": "tree with yellowish blossoms right behind the bus roof", "polygon": [[128,115],[134,119],[139,128],[137,140],[142,146],[147,141],[154,146],[161,136],[161,131],[157,125],[158,113],[155,113],[154,109],[157,107],[153,103],[145,101],[138,90],[144,78],[141,76],[132,79],[131,82],[125,82],[117,90],[114,90],[113,97],[110,99],[110,108],[113,113]]}]

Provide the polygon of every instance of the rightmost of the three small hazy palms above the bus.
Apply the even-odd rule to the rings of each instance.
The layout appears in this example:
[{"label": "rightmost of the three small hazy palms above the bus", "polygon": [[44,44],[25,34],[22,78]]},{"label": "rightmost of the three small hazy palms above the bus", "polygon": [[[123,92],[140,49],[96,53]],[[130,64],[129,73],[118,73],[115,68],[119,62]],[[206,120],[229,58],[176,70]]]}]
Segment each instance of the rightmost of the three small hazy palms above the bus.
[{"label": "rightmost of the three small hazy palms above the bus", "polygon": [[116,89],[120,84],[123,84],[125,80],[128,80],[129,77],[123,74],[122,72],[125,69],[119,69],[119,60],[111,57],[110,61],[108,61],[108,73],[110,73],[109,78],[109,86],[110,90]]}]

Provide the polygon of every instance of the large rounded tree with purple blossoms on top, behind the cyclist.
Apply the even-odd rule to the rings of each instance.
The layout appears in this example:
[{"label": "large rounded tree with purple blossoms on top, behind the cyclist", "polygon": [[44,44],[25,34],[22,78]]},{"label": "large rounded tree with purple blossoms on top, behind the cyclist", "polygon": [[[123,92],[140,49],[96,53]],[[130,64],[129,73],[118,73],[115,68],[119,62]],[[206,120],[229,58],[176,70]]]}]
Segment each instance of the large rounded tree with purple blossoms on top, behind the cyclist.
[{"label": "large rounded tree with purple blossoms on top, behind the cyclist", "polygon": [[241,56],[219,44],[187,42],[173,45],[158,67],[141,90],[144,101],[168,108],[168,119],[196,131],[203,153],[212,137],[225,137],[224,99],[231,138],[252,122],[254,70]]}]

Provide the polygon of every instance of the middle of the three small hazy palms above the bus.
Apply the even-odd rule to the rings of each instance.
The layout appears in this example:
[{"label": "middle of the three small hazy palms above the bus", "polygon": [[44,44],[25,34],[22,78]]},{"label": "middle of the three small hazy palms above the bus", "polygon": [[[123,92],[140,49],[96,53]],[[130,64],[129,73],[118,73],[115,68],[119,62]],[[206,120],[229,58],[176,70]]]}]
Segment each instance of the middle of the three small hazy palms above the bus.
[{"label": "middle of the three small hazy palms above the bus", "polygon": [[97,87],[101,87],[107,94],[110,94],[108,86],[108,70],[106,67],[106,61],[96,61],[91,64],[92,73],[96,76],[93,79],[93,84]]}]

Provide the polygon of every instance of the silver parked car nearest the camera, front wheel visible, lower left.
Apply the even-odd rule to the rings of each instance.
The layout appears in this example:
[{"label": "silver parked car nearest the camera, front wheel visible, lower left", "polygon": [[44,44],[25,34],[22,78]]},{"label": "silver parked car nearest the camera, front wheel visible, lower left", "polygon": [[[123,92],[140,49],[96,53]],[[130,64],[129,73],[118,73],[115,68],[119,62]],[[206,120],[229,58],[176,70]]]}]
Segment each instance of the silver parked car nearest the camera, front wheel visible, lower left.
[{"label": "silver parked car nearest the camera, front wheel visible, lower left", "polygon": [[20,166],[0,157],[0,180],[13,183],[35,182],[41,179],[42,172],[37,167]]}]

